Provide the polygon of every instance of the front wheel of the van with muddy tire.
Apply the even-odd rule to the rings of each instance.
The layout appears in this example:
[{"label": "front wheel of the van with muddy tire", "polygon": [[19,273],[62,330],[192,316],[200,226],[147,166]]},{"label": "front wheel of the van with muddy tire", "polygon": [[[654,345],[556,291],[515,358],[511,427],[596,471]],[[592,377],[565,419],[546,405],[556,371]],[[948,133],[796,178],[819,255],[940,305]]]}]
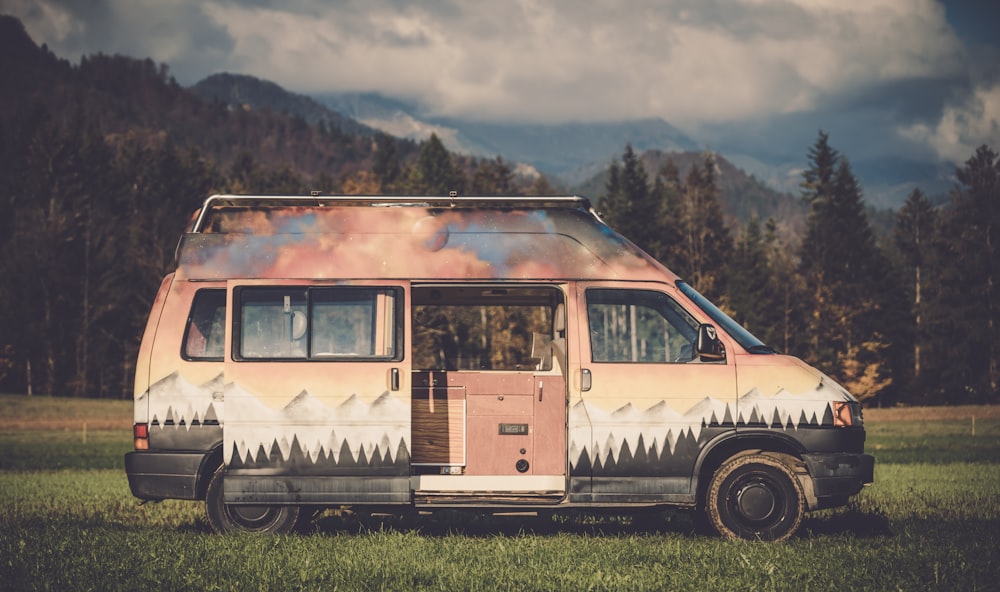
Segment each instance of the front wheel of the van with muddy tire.
[{"label": "front wheel of the van with muddy tire", "polygon": [[805,514],[802,485],[783,455],[751,454],[722,464],[705,497],[708,519],[731,539],[783,541]]}]

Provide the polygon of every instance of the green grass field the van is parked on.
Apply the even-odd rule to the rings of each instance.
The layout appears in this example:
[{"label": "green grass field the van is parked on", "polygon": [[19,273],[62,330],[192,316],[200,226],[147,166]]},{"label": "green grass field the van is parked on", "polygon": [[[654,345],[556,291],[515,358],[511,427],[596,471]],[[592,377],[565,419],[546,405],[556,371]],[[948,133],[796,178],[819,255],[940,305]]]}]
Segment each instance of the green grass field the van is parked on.
[{"label": "green grass field the van is parked on", "polygon": [[130,403],[0,412],[5,591],[1000,590],[996,408],[866,410],[875,485],[780,544],[696,535],[684,512],[327,513],[308,535],[216,536],[200,503],[132,498]]}]

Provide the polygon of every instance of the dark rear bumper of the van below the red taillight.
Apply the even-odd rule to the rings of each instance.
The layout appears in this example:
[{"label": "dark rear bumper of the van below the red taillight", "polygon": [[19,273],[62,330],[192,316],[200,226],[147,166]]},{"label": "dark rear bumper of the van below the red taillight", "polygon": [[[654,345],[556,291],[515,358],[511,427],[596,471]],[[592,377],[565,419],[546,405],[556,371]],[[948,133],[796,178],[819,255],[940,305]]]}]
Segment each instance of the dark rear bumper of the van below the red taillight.
[{"label": "dark rear bumper of the van below the red taillight", "polygon": [[139,499],[199,499],[198,476],[206,452],[136,450],[125,455],[132,495]]}]

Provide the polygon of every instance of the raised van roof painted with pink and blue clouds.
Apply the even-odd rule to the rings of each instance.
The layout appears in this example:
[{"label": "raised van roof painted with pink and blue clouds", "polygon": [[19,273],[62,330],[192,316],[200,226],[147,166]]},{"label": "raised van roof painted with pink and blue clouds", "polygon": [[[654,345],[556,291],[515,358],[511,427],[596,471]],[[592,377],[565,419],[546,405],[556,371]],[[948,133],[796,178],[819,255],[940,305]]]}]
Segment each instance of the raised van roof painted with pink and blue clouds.
[{"label": "raised van roof painted with pink and blue clouds", "polygon": [[676,279],[579,196],[213,195],[177,261],[203,280]]}]

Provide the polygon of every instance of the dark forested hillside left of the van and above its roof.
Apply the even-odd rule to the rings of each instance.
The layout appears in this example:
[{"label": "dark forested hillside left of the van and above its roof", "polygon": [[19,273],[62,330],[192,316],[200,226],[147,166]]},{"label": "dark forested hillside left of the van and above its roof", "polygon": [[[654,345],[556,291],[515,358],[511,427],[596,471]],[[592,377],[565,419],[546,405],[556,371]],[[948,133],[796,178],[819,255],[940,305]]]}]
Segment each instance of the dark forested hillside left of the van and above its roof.
[{"label": "dark forested hillside left of the van and above its roof", "polygon": [[437,137],[416,152],[384,134],[372,144],[370,167],[308,175],[249,152],[221,165],[169,134],[106,134],[82,112],[0,126],[0,391],[131,396],[153,296],[213,193],[552,193]]}]

